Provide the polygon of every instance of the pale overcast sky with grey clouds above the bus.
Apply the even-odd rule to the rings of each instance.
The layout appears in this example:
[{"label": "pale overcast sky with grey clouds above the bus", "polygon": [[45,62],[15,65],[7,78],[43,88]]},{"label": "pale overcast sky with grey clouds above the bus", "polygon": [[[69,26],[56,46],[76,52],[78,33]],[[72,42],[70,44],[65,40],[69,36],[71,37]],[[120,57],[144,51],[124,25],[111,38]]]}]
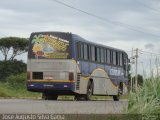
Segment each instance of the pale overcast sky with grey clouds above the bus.
[{"label": "pale overcast sky with grey clouds above the bus", "polygon": [[[61,31],[125,50],[160,52],[159,0],[0,0],[0,38]],[[154,55],[139,54],[147,66]],[[0,55],[0,60],[3,56]],[[17,59],[27,61],[27,53]],[[154,63],[154,61],[152,61]],[[142,67],[140,67],[142,68]]]}]

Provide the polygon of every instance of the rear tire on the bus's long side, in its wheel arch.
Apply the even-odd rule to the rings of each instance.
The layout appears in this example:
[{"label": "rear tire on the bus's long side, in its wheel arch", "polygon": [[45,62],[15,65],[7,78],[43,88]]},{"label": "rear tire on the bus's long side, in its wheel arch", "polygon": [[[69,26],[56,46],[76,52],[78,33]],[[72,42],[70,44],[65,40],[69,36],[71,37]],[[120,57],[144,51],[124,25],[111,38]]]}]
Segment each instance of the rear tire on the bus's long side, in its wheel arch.
[{"label": "rear tire on the bus's long side, in its wheel arch", "polygon": [[89,81],[87,86],[87,94],[85,96],[86,100],[91,100],[93,94],[93,82]]}]

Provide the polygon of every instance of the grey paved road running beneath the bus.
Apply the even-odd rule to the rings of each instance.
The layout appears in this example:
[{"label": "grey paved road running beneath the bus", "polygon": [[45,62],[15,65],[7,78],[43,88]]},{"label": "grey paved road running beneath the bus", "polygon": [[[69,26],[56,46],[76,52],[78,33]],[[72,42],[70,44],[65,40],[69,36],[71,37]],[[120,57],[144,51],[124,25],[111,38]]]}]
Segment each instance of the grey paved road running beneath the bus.
[{"label": "grey paved road running beneath the bus", "polygon": [[121,114],[127,101],[44,101],[0,99],[0,113]]}]

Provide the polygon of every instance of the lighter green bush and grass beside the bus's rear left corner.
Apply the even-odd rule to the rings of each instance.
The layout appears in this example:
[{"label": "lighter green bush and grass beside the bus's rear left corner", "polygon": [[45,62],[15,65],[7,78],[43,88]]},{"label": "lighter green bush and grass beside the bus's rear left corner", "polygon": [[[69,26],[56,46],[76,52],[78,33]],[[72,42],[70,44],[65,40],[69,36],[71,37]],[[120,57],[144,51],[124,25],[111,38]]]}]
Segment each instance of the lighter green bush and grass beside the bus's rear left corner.
[{"label": "lighter green bush and grass beside the bus's rear left corner", "polygon": [[28,92],[25,85],[26,73],[11,75],[0,82],[0,97],[39,98],[40,93]]}]

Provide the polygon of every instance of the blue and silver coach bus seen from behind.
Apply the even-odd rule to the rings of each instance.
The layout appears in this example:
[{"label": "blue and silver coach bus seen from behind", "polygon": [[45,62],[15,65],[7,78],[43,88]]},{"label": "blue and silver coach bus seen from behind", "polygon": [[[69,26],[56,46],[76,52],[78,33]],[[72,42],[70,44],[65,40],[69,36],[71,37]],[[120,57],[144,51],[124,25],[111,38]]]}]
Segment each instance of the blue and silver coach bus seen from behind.
[{"label": "blue and silver coach bus seen from behind", "polygon": [[127,94],[128,55],[69,32],[34,32],[27,60],[27,90],[41,92],[45,100],[92,95],[119,101]]}]

